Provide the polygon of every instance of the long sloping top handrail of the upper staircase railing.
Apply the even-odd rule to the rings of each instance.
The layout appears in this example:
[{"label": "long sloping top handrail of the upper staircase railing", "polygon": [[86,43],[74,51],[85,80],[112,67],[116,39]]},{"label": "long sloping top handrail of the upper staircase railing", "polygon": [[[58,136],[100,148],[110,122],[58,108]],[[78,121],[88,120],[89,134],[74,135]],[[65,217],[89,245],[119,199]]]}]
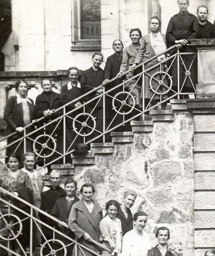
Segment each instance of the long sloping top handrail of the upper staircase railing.
[{"label": "long sloping top handrail of the upper staircase railing", "polygon": [[[161,55],[163,55],[163,54],[169,52],[170,50],[172,50],[172,49],[174,49],[174,48],[176,48],[176,45],[171,46],[171,47],[169,47],[168,49],[166,49],[165,51],[163,51],[162,53],[159,53],[158,55],[155,55],[155,56],[153,56],[153,57],[147,59],[146,61],[141,62],[140,64],[138,64],[138,65],[135,67],[135,69],[137,69],[138,67],[140,67],[140,66],[146,64],[147,62],[152,61],[153,59],[157,58],[158,56],[161,56]],[[161,64],[161,62],[159,62],[159,64]],[[133,70],[132,68],[126,70],[125,72],[123,72],[122,74],[120,74],[118,77],[115,76],[114,78],[110,79],[109,82],[111,83],[111,82],[115,81],[116,79],[121,78],[122,76],[126,75],[127,73],[131,72],[132,70]],[[129,81],[129,80],[131,80],[131,79],[134,79],[134,78],[136,78],[138,75],[140,75],[140,74],[137,74],[137,75],[133,76],[132,78],[126,80],[126,81]],[[118,88],[118,87],[121,86],[123,83],[124,83],[124,82],[120,83],[119,85],[117,85],[117,86],[114,87],[113,89]],[[62,110],[63,108],[67,107],[68,105],[70,105],[70,104],[72,104],[72,103],[74,103],[74,102],[77,102],[77,101],[79,101],[80,99],[83,99],[83,98],[86,97],[88,94],[93,93],[94,91],[97,91],[99,88],[102,88],[102,87],[103,87],[103,85],[101,84],[101,85],[99,85],[98,87],[93,88],[92,90],[88,91],[87,93],[84,93],[83,95],[79,96],[78,98],[76,98],[76,99],[74,99],[74,100],[72,100],[72,101],[70,101],[70,102],[64,104],[63,106],[57,108],[56,110],[53,111],[53,113],[56,113],[57,111]],[[94,97],[93,99],[90,100],[90,102],[91,102],[91,101],[94,101],[95,99],[97,99],[97,98],[99,98],[99,97],[101,97],[101,95],[103,95],[103,94],[100,94],[100,95]],[[88,102],[88,103],[89,103],[89,102]],[[83,107],[83,105],[81,105],[80,107]],[[78,108],[80,108],[80,107],[78,107]],[[74,108],[74,111],[77,110],[78,108]],[[24,129],[29,128],[30,126],[36,125],[36,123],[38,123],[38,122],[40,122],[41,120],[44,120],[44,119],[45,119],[45,117],[40,117],[39,119],[36,119],[34,122],[29,123],[28,125],[24,126],[23,128],[24,128]],[[50,123],[51,123],[51,122],[49,122],[49,124],[50,124]],[[40,128],[41,128],[41,127],[40,127]],[[11,137],[11,136],[13,136],[13,135],[15,135],[15,134],[17,134],[17,133],[18,133],[18,132],[15,131],[15,132],[13,132],[13,133],[11,133],[11,134],[9,134],[9,135],[3,137],[2,139],[0,139],[0,142],[2,142],[3,140],[8,139],[9,137]]]}]

